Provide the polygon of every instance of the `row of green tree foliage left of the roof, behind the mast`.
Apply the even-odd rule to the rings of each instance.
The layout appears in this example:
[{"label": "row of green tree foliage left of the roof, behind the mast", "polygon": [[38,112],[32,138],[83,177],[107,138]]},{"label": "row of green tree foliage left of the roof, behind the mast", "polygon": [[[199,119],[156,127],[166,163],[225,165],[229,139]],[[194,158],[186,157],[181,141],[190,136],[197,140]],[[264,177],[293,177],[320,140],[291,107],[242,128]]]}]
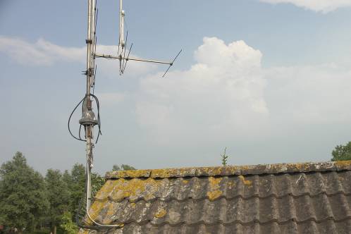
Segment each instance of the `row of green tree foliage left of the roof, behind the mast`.
[{"label": "row of green tree foliage left of the roof, behind the mast", "polygon": [[[114,166],[118,170],[135,170],[133,166]],[[92,197],[104,185],[103,176],[92,173]],[[80,203],[82,206],[80,206]],[[85,216],[85,166],[74,164],[70,171],[49,169],[45,178],[27,165],[17,152],[0,168],[0,224],[25,233],[77,233],[75,215]],[[35,230],[36,227],[45,227]]]}]

